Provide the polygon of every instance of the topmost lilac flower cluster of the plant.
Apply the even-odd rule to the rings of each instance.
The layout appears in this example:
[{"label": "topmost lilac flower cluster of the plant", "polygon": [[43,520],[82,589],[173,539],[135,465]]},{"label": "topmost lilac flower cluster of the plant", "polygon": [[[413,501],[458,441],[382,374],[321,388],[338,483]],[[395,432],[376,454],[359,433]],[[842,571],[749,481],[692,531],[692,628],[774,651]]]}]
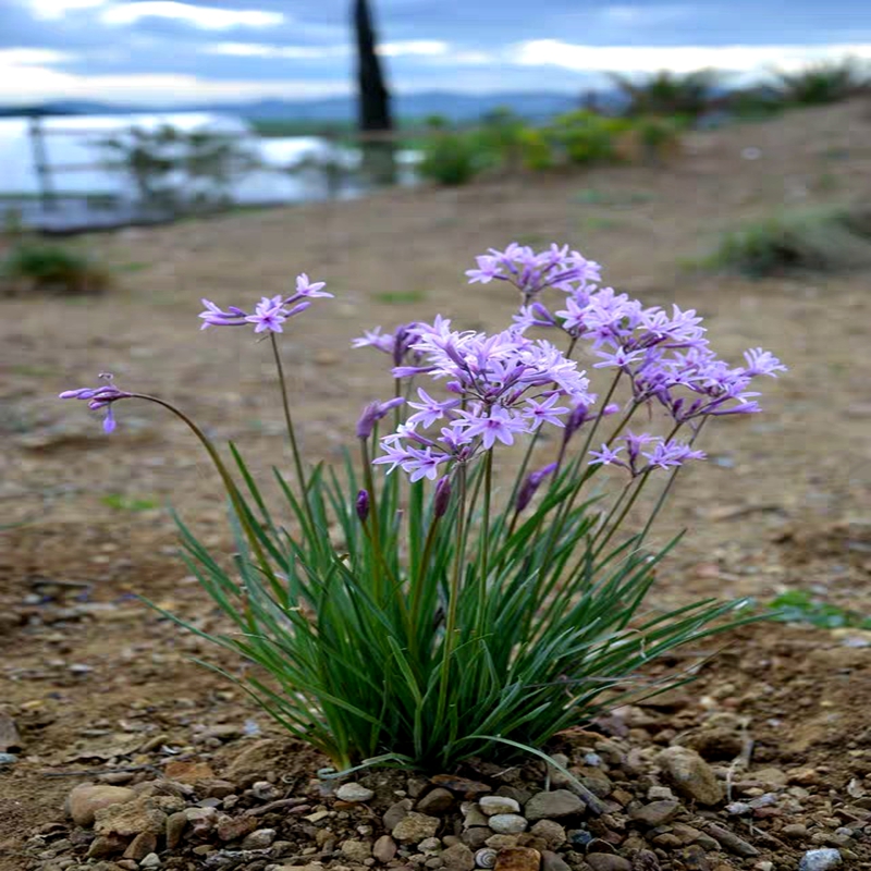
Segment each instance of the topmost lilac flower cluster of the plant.
[{"label": "topmost lilac flower cluster of the plant", "polygon": [[547,252],[536,254],[530,247],[513,242],[504,252],[490,248],[478,258],[477,269],[466,270],[469,284],[507,281],[514,284],[529,303],[547,287],[572,292],[587,289],[601,280],[599,263],[588,260],[578,252],[551,245]]}]

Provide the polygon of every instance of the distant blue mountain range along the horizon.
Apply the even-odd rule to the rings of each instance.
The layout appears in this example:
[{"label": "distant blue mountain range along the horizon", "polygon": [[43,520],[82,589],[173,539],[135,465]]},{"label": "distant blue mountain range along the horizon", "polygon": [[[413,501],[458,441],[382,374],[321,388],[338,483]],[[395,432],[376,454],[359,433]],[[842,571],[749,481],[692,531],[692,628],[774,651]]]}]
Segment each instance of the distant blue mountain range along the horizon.
[{"label": "distant blue mountain range along the horizon", "polygon": [[[471,121],[494,109],[507,108],[530,120],[550,118],[575,109],[579,95],[559,91],[452,94],[429,91],[397,95],[394,112],[402,119],[425,119],[442,115],[450,121]],[[22,114],[95,115],[132,112],[228,112],[248,121],[349,122],[356,116],[352,97],[320,100],[258,100],[244,103],[191,103],[186,106],[130,106],[93,100],[56,100],[39,106],[0,107],[0,118]]]}]

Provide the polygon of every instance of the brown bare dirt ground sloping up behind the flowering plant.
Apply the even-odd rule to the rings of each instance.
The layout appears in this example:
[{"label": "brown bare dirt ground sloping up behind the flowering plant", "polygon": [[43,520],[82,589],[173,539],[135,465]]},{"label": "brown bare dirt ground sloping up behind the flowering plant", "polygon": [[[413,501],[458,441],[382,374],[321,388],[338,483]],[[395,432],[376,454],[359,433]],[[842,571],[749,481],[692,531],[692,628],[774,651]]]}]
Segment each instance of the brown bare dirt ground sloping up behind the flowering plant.
[{"label": "brown bare dirt ground sloping up behind the flowering plant", "polygon": [[[694,134],[666,167],[404,191],[93,237],[86,245],[118,269],[116,289],[0,300],[0,526],[26,520],[0,531],[0,712],[17,722],[23,745],[14,765],[0,766],[0,856],[10,857],[0,868],[30,867],[26,839],[62,819],[64,796],[88,772],[149,764],[136,749],[144,736],[189,745],[219,724],[241,736],[272,731],[189,662],[217,661],[213,651],[135,598],[204,626],[216,619],[174,555],[165,510],[171,503],[207,541],[224,541],[220,490],[196,444],[157,409],[131,403],[107,438],[84,407],[57,402],[59,391],[112,371],[122,388],[172,397],[218,441],[240,442],[255,467],[285,463],[267,348],[243,331],[199,332],[196,315],[201,296],[244,304],[306,271],[336,298],[294,322],[283,346],[302,440],[310,456],[334,458],[360,406],[390,393],[387,358],[349,351],[352,338],[436,312],[500,328],[515,300],[504,285],[465,284],[474,256],[511,241],[569,243],[602,262],[615,289],[699,309],[723,356],[737,363],[761,345],[790,369],[765,384],[764,415],[706,432],[711,462],[686,476],[660,530],[688,533],[658,601],[768,602],[801,589],[868,616],[871,270],[750,282],[687,262],[723,230],[773,208],[869,195],[871,108],[850,105]],[[850,784],[854,798],[871,794],[869,641],[869,633],[809,625],[745,630],[706,666],[688,704],[701,711],[713,697],[746,717],[760,763],[812,768],[829,795]],[[660,726],[653,739],[668,728]]]}]

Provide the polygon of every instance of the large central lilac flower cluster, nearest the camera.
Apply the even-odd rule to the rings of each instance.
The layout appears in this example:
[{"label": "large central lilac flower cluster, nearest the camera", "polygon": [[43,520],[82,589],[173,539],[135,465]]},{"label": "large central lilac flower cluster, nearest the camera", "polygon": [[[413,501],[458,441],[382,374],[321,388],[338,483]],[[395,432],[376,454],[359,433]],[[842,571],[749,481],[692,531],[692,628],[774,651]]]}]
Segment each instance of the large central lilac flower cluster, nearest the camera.
[{"label": "large central lilac flower cluster, nearest the camera", "polygon": [[[447,398],[418,388],[415,412],[396,432],[382,439],[383,455],[376,464],[397,466],[412,480],[434,479],[439,467],[466,462],[496,442],[513,444],[516,436],[535,432],[542,424],[564,427],[573,407],[589,406],[596,397],[577,364],[550,342],[532,341],[516,330],[495,335],[455,332],[446,321],[425,328],[413,345],[419,366],[396,366],[396,378],[428,375],[444,380]],[[566,400],[569,405],[559,405]],[[439,432],[427,430],[439,428]]]}]

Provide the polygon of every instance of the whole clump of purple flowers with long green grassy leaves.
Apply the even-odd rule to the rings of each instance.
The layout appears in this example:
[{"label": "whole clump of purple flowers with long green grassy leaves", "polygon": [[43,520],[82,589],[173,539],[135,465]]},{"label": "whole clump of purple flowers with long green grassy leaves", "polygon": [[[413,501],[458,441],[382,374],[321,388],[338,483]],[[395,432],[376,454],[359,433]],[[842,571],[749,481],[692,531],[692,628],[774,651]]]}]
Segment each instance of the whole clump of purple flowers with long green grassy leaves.
[{"label": "whole clump of purple flowers with long green grassy leaves", "polygon": [[253,311],[204,299],[204,329],[270,344],[293,461],[293,480],[274,469],[280,513],[235,445],[225,457],[171,403],[108,375],[61,394],[103,412],[107,432],[116,403],[157,402],[200,440],[236,551],[231,571],[180,522],[188,566],[234,625],[206,637],[259,666],[231,679],[338,770],[541,756],[561,729],[686,679],[646,679],[651,660],[753,618],[743,602],[645,610],[675,544],[648,538],[683,468],[704,459],[703,429],[760,412],[756,387],[785,367],[761,348],[720,359],[695,311],[646,307],[601,272],[568,247],[491,249],[467,275],[513,285],[506,329],[439,316],[355,340],[387,355],[392,396],[363,409],[359,461],[339,470],[303,455],[279,343],[331,296],[323,282],[302,274]]}]

